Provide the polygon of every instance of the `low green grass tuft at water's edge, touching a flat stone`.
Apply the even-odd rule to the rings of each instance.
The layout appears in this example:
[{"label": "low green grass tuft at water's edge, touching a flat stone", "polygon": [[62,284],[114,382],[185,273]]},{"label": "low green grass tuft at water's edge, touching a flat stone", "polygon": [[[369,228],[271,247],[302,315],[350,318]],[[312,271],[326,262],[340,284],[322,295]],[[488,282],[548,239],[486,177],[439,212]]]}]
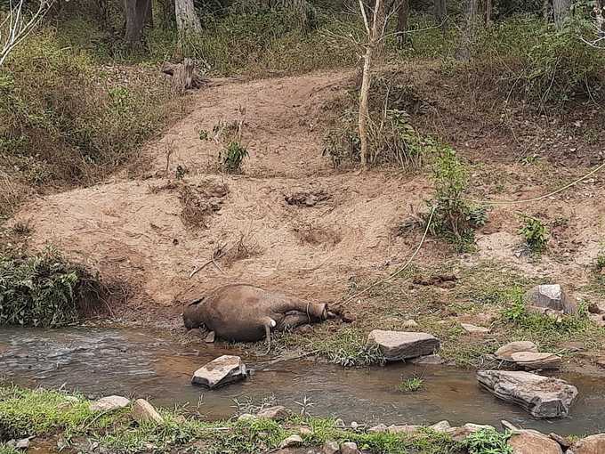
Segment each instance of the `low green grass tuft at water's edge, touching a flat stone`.
[{"label": "low green grass tuft at water's edge, touching a flat stone", "polygon": [[328,361],[345,368],[383,364],[378,345],[368,345],[366,336],[353,328],[342,328],[324,340],[313,341],[311,348]]}]

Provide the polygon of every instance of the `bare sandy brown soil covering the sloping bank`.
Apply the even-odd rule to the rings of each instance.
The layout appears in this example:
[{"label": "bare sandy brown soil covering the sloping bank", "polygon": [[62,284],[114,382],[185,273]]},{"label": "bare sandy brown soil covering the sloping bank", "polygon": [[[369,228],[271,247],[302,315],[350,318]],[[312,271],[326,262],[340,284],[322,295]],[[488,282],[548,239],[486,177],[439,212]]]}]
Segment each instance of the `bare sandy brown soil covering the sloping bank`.
[{"label": "bare sandy brown soil covering the sloping bank", "polygon": [[[431,76],[432,69],[426,74]],[[181,304],[235,281],[313,301],[338,301],[351,281],[386,276],[406,261],[422,232],[399,236],[397,226],[424,210],[424,200],[432,194],[428,170],[410,174],[382,168],[361,174],[335,170],[322,157],[323,124],[339,114],[327,106],[335,105],[332,101],[351,86],[351,77],[348,72],[324,72],[222,81],[190,94],[183,102],[192,104],[192,113],[142,152],[139,162],[147,165],[141,164],[138,176],[118,174],[91,188],[35,199],[15,219],[31,221],[32,247],[52,243],[101,276],[127,282],[133,294],[125,306],[115,308],[124,320],[178,327]],[[439,90],[426,77],[410,84],[418,102],[430,106],[419,109],[415,121],[449,138],[473,163],[472,195],[477,198],[533,198],[587,173],[585,165],[599,158],[593,148],[584,147],[573,161],[557,152],[522,164],[514,157],[527,155],[533,143],[540,144],[544,155],[544,144],[553,141],[559,123],[553,126],[548,116],[528,117],[531,127],[525,127],[516,117],[494,132],[479,107],[461,105],[464,96],[470,102],[476,93],[464,94],[463,87],[447,81],[436,82],[447,85]],[[213,128],[219,120],[240,119],[250,157],[243,174],[221,174],[217,159],[222,144],[212,139]],[[540,140],[537,121],[550,125],[539,134],[551,142]],[[514,134],[518,127],[522,140]],[[201,140],[200,130],[209,132],[210,140]],[[558,147],[573,148],[569,142],[566,135]],[[176,182],[179,166],[185,173]],[[454,260],[456,267],[472,268],[495,261],[571,290],[582,289],[591,280],[590,267],[605,239],[604,183],[605,173],[595,174],[552,198],[496,206],[478,233],[476,253],[457,255],[440,240],[429,239],[416,263]],[[209,184],[225,185],[228,191],[220,198],[212,196],[220,201],[204,211],[203,223],[186,222],[179,188],[204,197]],[[310,204],[286,201],[299,193],[322,196]],[[539,259],[519,253],[520,212],[538,215],[551,230],[549,250]],[[217,254],[240,241],[254,248],[254,254],[226,261]],[[356,310],[362,311],[363,304]]]}]

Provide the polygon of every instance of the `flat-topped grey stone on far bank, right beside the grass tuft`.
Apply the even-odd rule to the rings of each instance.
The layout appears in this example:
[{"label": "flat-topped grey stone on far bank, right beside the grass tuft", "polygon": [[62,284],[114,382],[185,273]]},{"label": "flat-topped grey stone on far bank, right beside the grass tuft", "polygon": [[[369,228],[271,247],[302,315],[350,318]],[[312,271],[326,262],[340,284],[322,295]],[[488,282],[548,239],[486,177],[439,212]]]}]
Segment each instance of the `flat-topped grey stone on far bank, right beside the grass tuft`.
[{"label": "flat-topped grey stone on far bank, right beside the grass tuft", "polygon": [[401,361],[432,354],[440,347],[437,337],[427,333],[374,329],[367,337],[369,345],[379,345],[387,361]]}]

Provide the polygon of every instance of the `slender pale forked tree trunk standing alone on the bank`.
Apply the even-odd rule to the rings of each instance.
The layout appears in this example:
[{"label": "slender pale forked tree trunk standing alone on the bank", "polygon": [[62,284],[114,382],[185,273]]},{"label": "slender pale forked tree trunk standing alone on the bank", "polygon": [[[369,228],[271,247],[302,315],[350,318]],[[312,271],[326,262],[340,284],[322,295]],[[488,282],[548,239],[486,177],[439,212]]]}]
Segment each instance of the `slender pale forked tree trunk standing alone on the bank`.
[{"label": "slender pale forked tree trunk standing alone on the bank", "polygon": [[361,79],[361,91],[359,93],[359,142],[361,144],[361,166],[365,170],[367,169],[367,120],[369,119],[369,95],[370,85],[372,84],[372,62],[375,53],[380,50],[382,44],[382,37],[384,33],[384,3],[383,0],[376,0],[374,6],[374,19],[372,21],[372,28],[370,28],[367,22],[367,14],[365,6],[361,0],[359,0],[359,8],[363,15],[364,24],[367,31],[367,46],[366,54],[364,55],[363,62],[363,76]]}]

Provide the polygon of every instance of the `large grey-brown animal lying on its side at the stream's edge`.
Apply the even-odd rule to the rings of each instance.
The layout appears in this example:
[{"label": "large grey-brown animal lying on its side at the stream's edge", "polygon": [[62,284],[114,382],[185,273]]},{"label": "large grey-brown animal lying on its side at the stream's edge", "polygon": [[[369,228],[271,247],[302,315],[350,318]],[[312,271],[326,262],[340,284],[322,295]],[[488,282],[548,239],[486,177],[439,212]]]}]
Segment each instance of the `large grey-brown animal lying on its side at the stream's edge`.
[{"label": "large grey-brown animal lying on its side at the stream's edge", "polygon": [[[327,304],[311,303],[246,284],[208,292],[185,307],[185,328],[206,326],[222,339],[255,342],[263,337],[270,349],[271,331],[327,320]],[[330,314],[331,315],[331,314]]]}]

